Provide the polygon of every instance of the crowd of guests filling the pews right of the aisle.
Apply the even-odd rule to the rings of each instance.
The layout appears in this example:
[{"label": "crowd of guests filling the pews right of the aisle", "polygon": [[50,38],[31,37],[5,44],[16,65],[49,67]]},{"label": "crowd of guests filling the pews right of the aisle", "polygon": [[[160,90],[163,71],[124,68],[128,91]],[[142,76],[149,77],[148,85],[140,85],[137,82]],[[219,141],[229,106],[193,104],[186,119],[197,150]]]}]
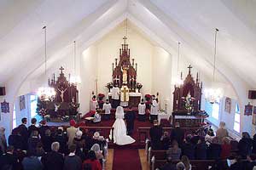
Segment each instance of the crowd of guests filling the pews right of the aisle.
[{"label": "crowd of guests filling the pews right of the aisle", "polygon": [[[220,122],[216,133],[209,127],[202,133],[194,131],[187,135],[177,122],[170,133],[164,132],[157,121],[150,128],[151,149],[166,150],[166,164],[161,170],[193,169],[189,160],[215,160],[217,163],[211,169],[216,170],[225,169],[224,160],[230,170],[256,169],[256,134],[251,139],[245,132],[239,142],[231,140],[224,122]],[[238,150],[233,150],[233,145]]]}]

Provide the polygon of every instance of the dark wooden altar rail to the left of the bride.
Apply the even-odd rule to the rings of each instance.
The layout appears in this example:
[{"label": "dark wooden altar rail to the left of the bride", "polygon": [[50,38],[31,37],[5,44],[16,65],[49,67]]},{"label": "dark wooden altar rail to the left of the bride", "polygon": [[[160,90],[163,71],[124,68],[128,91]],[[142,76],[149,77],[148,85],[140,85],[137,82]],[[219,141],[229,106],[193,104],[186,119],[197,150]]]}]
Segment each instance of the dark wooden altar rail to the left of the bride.
[{"label": "dark wooden altar rail to the left of the bride", "polygon": [[[57,127],[63,127],[64,131],[66,131],[69,126],[51,126],[51,127],[55,128],[55,129],[57,129]],[[99,132],[100,135],[103,136],[105,139],[109,139],[110,132],[112,133],[111,135],[113,136],[113,127],[85,127],[85,126],[81,126],[81,127],[79,127],[79,129],[82,132],[85,132],[85,130],[87,129],[89,131],[89,133],[91,133],[91,134],[93,134],[95,132]],[[113,142],[113,138],[110,139],[109,142]]]}]

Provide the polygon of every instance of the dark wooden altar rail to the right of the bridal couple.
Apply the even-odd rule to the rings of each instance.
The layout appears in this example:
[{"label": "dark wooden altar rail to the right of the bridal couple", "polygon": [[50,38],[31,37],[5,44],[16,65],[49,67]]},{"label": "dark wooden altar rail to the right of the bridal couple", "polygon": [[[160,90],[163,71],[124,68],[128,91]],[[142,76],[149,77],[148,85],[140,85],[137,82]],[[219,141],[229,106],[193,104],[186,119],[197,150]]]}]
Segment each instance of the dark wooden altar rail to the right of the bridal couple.
[{"label": "dark wooden altar rail to the right of the bridal couple", "polygon": [[[202,127],[180,127],[181,129],[183,129],[185,136],[189,133],[192,133],[195,130],[199,130],[199,134],[202,135],[203,130],[209,127],[209,125],[204,125]],[[171,133],[172,129],[174,127],[163,127],[164,132],[168,132],[169,134]],[[149,139],[149,130],[150,127],[138,127],[137,131],[138,131],[138,135],[139,135],[139,142],[140,143],[145,143],[146,139]]]}]

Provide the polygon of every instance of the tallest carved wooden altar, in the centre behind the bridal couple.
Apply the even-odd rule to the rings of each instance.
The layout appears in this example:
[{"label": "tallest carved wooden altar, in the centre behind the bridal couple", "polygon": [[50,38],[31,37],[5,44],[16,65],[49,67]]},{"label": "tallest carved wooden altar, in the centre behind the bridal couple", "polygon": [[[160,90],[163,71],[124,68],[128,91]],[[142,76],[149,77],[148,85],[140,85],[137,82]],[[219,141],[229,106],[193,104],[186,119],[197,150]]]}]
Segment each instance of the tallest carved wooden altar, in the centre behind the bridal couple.
[{"label": "tallest carved wooden altar, in the centre behind the bridal couple", "polygon": [[[142,94],[139,93],[142,84],[137,82],[137,63],[130,57],[130,48],[126,43],[126,37],[122,48],[119,48],[119,61],[115,59],[112,64],[112,81],[113,87],[119,88],[120,105],[137,107],[140,103]],[[108,94],[111,99],[111,93]]]}]

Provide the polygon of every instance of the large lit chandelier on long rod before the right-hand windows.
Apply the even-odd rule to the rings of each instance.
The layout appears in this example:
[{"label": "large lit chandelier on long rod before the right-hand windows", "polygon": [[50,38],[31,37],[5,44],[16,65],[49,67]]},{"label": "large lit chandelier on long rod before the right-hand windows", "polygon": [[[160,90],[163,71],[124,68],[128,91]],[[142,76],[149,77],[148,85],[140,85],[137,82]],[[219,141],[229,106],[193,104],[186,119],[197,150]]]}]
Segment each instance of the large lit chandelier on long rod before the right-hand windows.
[{"label": "large lit chandelier on long rod before the right-hand windows", "polygon": [[[218,28],[215,29],[215,37],[214,37],[214,60],[213,60],[213,75],[212,82],[215,83],[215,71],[216,71],[216,49],[217,49],[217,33]],[[212,88],[205,89],[205,98],[211,104],[218,103],[220,99],[223,97],[223,90],[221,88],[216,88],[214,85]]]}]

